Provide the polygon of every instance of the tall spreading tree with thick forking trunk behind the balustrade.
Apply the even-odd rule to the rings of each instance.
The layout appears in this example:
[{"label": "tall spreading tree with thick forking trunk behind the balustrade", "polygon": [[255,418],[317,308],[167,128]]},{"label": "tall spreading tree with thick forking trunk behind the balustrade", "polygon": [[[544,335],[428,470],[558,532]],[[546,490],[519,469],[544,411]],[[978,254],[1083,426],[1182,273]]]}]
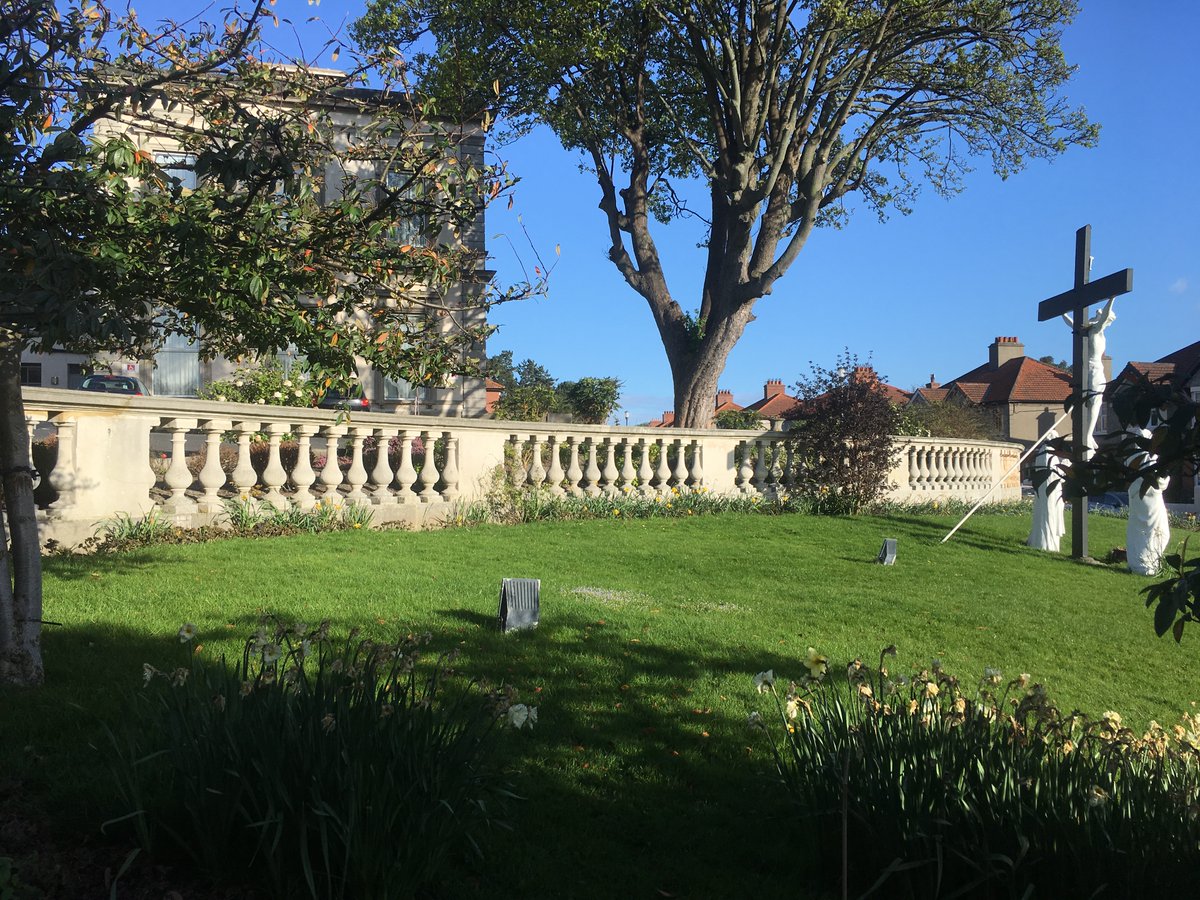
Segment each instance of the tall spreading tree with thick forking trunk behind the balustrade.
[{"label": "tall spreading tree with thick forking trunk behind the balustrade", "polygon": [[[641,294],[706,426],[718,377],[820,224],[907,211],[974,156],[1007,176],[1092,144],[1060,91],[1074,0],[373,0],[356,38],[445,102],[550,125],[595,175],[608,258]],[[432,35],[434,49],[428,50]],[[704,197],[700,210],[686,197]],[[655,222],[707,223],[701,295],[670,287]],[[698,301],[698,302],[697,302]]]}]

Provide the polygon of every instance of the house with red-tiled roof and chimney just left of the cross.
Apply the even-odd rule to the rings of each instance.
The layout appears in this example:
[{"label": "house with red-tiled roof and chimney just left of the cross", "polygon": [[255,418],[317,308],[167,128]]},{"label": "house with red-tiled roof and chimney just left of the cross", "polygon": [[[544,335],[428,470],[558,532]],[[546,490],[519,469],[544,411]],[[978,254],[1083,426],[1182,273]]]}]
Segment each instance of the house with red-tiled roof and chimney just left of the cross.
[{"label": "house with red-tiled roof and chimney just left of the cross", "polygon": [[[1112,360],[1104,356],[1104,372]],[[960,402],[991,413],[1007,440],[1031,446],[1064,412],[1070,396],[1070,373],[1025,355],[1025,344],[1015,337],[997,337],[988,347],[988,361],[944,385],[932,376],[930,383],[913,391],[913,403]],[[1070,434],[1070,418],[1060,422],[1058,434]],[[1104,415],[1097,431],[1105,431]]]}]

